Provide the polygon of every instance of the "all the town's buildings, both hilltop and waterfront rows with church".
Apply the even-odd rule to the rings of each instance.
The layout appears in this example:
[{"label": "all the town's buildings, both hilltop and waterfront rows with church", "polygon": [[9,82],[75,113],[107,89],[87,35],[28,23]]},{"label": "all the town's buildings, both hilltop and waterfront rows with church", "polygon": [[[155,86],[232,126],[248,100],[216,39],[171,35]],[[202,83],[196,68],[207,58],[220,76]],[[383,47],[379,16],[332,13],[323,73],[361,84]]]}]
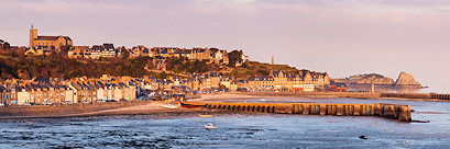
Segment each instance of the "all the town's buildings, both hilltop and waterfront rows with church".
[{"label": "all the town's buildings, both hilltop and waterfront rows with church", "polygon": [[[9,47],[11,48],[11,47]],[[37,30],[31,26],[30,46],[23,48],[28,57],[62,54],[67,49],[67,57],[73,59],[97,59],[111,57],[136,58],[154,57],[151,71],[166,72],[166,59],[180,58],[187,61],[202,60],[207,64],[230,65],[240,67],[246,59],[242,50],[235,50],[238,57],[231,59],[226,49],[194,47],[135,46],[132,48],[114,47],[112,43],[94,46],[74,46],[68,36],[39,36]],[[270,64],[265,64],[270,65]],[[274,65],[274,59],[272,64]],[[146,68],[147,69],[147,68]],[[172,73],[172,71],[167,71]],[[10,78],[0,81],[1,105],[32,104],[70,104],[135,101],[144,93],[156,92],[162,95],[196,94],[210,92],[311,92],[345,91],[344,83],[330,81],[327,72],[271,70],[266,76],[249,78],[224,77],[223,72],[207,71],[204,73],[185,73],[164,78],[145,74],[140,78],[129,76],[102,74],[98,78]],[[147,96],[150,98],[150,96]],[[153,96],[152,96],[153,98]],[[161,96],[158,96],[161,99]]]}]

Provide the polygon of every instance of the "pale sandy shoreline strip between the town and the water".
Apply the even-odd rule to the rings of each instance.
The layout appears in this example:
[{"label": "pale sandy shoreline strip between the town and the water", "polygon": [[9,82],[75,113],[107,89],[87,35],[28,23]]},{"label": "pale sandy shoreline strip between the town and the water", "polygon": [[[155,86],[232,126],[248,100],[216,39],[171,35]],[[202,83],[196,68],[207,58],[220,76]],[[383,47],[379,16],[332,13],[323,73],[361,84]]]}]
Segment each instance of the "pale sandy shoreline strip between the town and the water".
[{"label": "pale sandy shoreline strip between the town and the water", "polygon": [[[201,99],[190,99],[188,101],[193,102],[244,102],[249,99],[264,99],[264,98],[305,98],[310,100],[329,99],[323,98],[310,98],[310,96],[293,96],[293,95],[249,95],[241,93],[216,93],[216,94],[201,94]],[[340,98],[339,98],[340,99]],[[358,99],[358,98],[356,98]],[[450,102],[443,100],[431,100],[431,99],[403,99],[403,98],[376,98],[376,99],[362,99],[362,100],[393,100],[393,101],[424,101],[424,102]],[[161,105],[167,104],[163,101],[151,101],[149,103],[140,105],[131,105],[128,107],[118,107],[111,110],[101,110],[97,112],[86,112],[78,114],[46,114],[46,115],[18,115],[18,116],[0,116],[0,119],[26,119],[26,118],[62,118],[62,117],[90,117],[90,116],[113,116],[113,115],[151,115],[151,114],[194,114],[194,113],[235,113],[227,111],[216,111],[216,110],[200,110],[200,108],[184,108],[176,105],[177,110],[164,108]],[[45,106],[42,106],[45,108]],[[244,113],[242,113],[244,114]]]}]

